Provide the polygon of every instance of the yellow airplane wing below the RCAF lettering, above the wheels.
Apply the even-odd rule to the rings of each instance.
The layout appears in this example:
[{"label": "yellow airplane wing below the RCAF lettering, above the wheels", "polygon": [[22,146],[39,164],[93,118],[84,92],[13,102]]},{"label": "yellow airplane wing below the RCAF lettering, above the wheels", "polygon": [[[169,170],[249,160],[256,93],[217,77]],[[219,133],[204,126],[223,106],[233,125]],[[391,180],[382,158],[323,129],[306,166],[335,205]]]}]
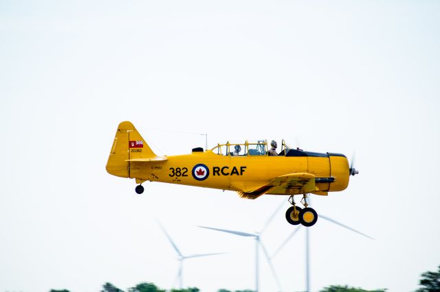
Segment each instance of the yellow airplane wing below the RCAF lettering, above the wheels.
[{"label": "yellow airplane wing below the RCAF lettering, above the wheels", "polygon": [[265,193],[272,195],[297,195],[316,191],[315,175],[311,173],[289,173],[278,176],[268,184],[250,192],[239,192],[240,197],[256,199]]}]

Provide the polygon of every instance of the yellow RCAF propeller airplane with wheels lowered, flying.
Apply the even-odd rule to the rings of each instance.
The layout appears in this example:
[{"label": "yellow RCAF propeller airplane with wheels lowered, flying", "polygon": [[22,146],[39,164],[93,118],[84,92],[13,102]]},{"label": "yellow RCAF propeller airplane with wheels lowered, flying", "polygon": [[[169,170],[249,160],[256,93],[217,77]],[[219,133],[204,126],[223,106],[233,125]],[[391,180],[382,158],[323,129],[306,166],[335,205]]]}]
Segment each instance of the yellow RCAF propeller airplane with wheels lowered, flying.
[{"label": "yellow RCAF propeller airplane with wheels lowered, flying", "polygon": [[[267,141],[218,144],[191,154],[157,156],[129,121],[119,124],[107,172],[135,178],[135,191],[144,192],[143,182],[168,182],[236,191],[246,199],[261,195],[288,195],[286,219],[293,225],[313,226],[318,215],[307,204],[307,194],[328,195],[343,191],[350,175],[358,174],[342,154],[290,149],[283,141],[278,156],[270,156]],[[303,195],[296,206],[294,195]]]}]

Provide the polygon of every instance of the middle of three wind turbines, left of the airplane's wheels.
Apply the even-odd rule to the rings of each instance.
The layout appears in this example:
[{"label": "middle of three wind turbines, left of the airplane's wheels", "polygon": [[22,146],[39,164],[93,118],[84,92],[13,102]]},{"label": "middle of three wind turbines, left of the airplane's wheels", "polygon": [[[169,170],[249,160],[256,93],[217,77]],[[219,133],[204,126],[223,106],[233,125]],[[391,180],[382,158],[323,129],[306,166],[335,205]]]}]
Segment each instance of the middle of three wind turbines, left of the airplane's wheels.
[{"label": "middle of three wind turbines, left of the airplane's wheels", "polygon": [[259,292],[259,247],[260,246],[261,246],[261,249],[263,250],[263,253],[265,254],[267,263],[269,264],[270,269],[272,270],[272,274],[274,275],[274,278],[276,280],[276,284],[278,285],[279,291],[283,291],[283,289],[281,289],[281,284],[280,284],[280,281],[278,280],[278,276],[276,276],[274,266],[272,265],[272,260],[270,259],[269,254],[267,254],[267,250],[266,250],[265,246],[263,245],[263,242],[261,241],[261,234],[263,234],[264,230],[267,228],[270,221],[272,221],[272,219],[274,219],[274,216],[278,213],[278,210],[280,210],[280,208],[284,204],[285,204],[285,202],[283,201],[283,204],[281,204],[280,206],[278,206],[278,208],[276,208],[274,214],[272,214],[272,216],[269,219],[267,219],[265,225],[263,226],[263,229],[261,229],[260,232],[250,233],[250,232],[241,232],[241,231],[235,231],[235,230],[225,230],[225,229],[219,229],[219,228],[199,226],[200,228],[217,230],[217,231],[221,231],[221,232],[235,234],[238,236],[253,237],[255,239],[255,291],[256,292]]}]

